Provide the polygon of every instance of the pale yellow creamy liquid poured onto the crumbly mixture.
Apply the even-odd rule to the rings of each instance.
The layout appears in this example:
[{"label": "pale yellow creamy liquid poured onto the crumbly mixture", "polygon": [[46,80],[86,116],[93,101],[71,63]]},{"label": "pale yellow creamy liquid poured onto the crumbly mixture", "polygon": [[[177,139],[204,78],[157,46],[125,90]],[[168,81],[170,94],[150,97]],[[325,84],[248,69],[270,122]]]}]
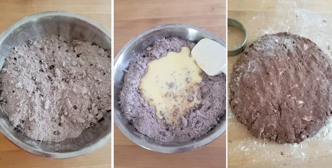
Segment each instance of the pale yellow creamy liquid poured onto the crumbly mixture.
[{"label": "pale yellow creamy liquid poured onto the crumbly mixture", "polygon": [[188,47],[182,47],[180,53],[168,52],[147,63],[147,72],[141,78],[142,97],[169,125],[180,124],[186,110],[201,102],[197,100],[197,90],[203,71],[189,55]]}]

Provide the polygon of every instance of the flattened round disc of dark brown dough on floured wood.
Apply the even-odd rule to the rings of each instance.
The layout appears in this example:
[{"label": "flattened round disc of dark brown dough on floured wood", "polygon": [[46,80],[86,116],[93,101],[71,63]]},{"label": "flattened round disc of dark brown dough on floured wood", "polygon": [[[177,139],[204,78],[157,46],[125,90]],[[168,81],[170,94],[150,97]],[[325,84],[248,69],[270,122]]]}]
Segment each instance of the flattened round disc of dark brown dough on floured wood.
[{"label": "flattened round disc of dark brown dough on floured wood", "polygon": [[266,35],[233,67],[229,103],[256,137],[299,143],[332,114],[332,61],[310,39]]}]

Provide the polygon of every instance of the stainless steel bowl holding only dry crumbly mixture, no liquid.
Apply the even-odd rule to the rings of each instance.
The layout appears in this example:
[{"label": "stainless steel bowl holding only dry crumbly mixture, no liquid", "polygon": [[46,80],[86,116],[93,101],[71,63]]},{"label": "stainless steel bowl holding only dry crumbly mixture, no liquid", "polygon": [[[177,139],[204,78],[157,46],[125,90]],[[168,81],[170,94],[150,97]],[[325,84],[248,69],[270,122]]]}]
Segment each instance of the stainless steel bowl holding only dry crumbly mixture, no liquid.
[{"label": "stainless steel bowl holding only dry crumbly mixture, no liquid", "polygon": [[[21,19],[0,35],[0,68],[13,47],[29,39],[50,35],[60,35],[67,41],[91,41],[104,49],[111,49],[110,33],[95,21],[73,13],[43,12]],[[43,142],[14,131],[1,109],[0,131],[12,143],[30,153],[49,158],[70,158],[90,153],[111,139],[111,112],[104,115],[103,121],[84,130],[77,138]]]}]

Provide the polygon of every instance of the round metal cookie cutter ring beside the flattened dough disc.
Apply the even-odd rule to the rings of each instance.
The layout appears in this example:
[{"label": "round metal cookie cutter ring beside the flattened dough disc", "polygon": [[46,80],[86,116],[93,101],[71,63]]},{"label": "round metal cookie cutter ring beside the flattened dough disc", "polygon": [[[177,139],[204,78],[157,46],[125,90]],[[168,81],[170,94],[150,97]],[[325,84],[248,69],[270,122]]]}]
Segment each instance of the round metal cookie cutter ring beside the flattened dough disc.
[{"label": "round metal cookie cutter ring beside the flattened dough disc", "polygon": [[238,48],[235,48],[235,49],[231,49],[231,50],[228,49],[227,56],[237,56],[237,55],[241,54],[243,51],[245,51],[245,49],[247,47],[247,30],[240,21],[238,21],[236,19],[232,19],[232,18],[227,19],[227,26],[240,29],[245,34],[245,40],[243,41],[241,46],[239,46]]}]

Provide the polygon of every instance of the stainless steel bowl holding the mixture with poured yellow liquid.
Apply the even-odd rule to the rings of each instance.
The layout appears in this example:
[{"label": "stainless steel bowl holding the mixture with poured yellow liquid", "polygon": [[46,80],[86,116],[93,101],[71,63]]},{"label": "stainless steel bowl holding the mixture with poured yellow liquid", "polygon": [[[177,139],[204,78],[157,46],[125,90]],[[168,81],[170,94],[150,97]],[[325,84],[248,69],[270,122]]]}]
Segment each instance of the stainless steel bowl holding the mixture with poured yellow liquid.
[{"label": "stainless steel bowl holding the mixture with poured yellow liquid", "polygon": [[210,38],[226,47],[225,42],[215,34],[205,29],[185,24],[158,26],[131,39],[114,59],[114,123],[125,136],[145,149],[164,153],[185,152],[198,149],[212,142],[226,131],[226,112],[211,131],[197,139],[192,139],[187,142],[162,142],[138,132],[122,114],[120,105],[117,103],[124,77],[124,70],[128,67],[129,62],[134,57],[134,52],[143,52],[145,48],[150,46],[154,41],[163,37],[179,37],[196,43],[202,38]]}]

